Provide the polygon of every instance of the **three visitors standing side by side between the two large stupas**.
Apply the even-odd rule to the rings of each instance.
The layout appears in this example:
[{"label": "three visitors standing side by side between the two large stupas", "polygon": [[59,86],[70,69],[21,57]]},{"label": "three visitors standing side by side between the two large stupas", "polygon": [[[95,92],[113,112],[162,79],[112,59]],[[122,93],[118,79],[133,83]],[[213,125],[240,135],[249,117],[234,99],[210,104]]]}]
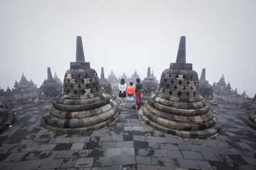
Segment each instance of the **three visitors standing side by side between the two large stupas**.
[{"label": "three visitors standing side by side between the two large stupas", "polygon": [[[129,86],[127,87],[124,78],[121,79],[118,87],[119,87],[119,99],[121,104],[120,105],[127,105],[127,103],[131,106],[132,101],[134,100],[134,95],[136,98],[136,105],[139,105],[142,102],[140,97],[142,91],[142,84],[140,84],[140,79],[136,79],[136,84],[134,87],[134,83],[130,82]],[[127,101],[128,100],[128,101]]]}]

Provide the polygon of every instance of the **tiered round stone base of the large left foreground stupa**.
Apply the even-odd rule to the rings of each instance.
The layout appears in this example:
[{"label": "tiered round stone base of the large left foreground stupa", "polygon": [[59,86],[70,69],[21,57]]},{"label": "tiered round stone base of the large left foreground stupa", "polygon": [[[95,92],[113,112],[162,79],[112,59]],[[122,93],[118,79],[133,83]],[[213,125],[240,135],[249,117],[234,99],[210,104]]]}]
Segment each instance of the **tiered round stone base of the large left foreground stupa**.
[{"label": "tiered round stone base of the large left foreground stupa", "polygon": [[51,105],[41,122],[46,130],[56,134],[77,134],[108,126],[118,116],[119,108],[113,101],[102,107],[85,111],[63,111]]}]

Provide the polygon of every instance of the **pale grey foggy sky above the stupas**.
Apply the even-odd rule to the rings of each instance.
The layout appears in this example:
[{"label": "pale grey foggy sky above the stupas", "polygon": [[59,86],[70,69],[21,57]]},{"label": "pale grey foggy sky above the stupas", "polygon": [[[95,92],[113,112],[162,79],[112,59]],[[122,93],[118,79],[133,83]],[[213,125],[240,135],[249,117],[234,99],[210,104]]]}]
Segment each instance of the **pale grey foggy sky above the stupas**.
[{"label": "pale grey foggy sky above the stupas", "polygon": [[12,1],[0,0],[0,87],[22,73],[41,86],[47,67],[59,78],[75,61],[82,36],[85,60],[98,75],[151,67],[159,79],[176,61],[186,36],[187,63],[210,84],[224,74],[241,94],[256,92],[256,1]]}]

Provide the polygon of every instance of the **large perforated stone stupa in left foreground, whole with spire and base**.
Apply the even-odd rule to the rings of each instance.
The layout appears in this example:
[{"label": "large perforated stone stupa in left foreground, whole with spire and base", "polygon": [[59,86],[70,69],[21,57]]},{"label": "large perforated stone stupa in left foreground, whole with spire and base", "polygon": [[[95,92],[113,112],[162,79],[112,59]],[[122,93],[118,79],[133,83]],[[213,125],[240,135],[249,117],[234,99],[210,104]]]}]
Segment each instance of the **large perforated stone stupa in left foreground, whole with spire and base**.
[{"label": "large perforated stone stupa in left foreground, whole with spire and base", "polygon": [[58,134],[100,129],[115,121],[119,108],[100,89],[98,75],[85,62],[82,38],[77,36],[76,62],[66,71],[62,94],[42,116],[42,126]]}]

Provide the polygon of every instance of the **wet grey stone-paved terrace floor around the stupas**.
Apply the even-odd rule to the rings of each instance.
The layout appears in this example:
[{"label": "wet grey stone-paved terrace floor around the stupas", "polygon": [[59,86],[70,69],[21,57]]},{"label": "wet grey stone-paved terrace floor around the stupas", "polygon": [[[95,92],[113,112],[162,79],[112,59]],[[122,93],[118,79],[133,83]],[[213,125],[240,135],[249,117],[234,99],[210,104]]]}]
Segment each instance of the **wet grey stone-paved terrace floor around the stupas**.
[{"label": "wet grey stone-paved terrace floor around the stupas", "polygon": [[40,126],[48,107],[12,108],[17,123],[0,134],[0,169],[256,169],[256,132],[236,106],[211,106],[223,128],[207,139],[153,131],[131,107],[111,126],[57,135]]}]

